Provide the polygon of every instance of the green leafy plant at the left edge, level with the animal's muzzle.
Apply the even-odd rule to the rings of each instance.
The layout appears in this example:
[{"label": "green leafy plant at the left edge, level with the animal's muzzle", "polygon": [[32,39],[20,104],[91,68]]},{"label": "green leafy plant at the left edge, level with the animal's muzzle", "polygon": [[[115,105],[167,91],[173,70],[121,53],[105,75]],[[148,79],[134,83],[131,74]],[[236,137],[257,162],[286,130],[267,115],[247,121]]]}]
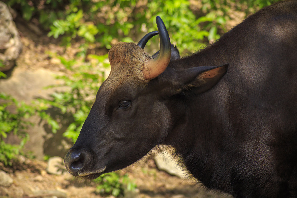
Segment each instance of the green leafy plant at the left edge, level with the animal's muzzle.
[{"label": "green leafy plant at the left edge, level with the animal's muzzle", "polygon": [[[12,165],[14,159],[17,159],[19,155],[24,155],[22,148],[29,138],[25,129],[28,126],[32,126],[32,123],[26,121],[26,119],[34,115],[35,110],[33,107],[23,102],[18,102],[11,96],[1,92],[0,103],[0,161],[4,165]],[[4,142],[9,133],[19,137],[20,143],[18,145]]]}]

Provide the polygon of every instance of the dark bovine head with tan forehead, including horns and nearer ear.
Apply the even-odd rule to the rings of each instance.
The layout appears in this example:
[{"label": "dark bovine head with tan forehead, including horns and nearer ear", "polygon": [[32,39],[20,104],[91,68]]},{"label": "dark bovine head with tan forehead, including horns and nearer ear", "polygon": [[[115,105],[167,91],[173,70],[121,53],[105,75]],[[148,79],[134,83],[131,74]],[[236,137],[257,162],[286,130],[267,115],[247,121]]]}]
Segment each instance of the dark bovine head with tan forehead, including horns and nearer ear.
[{"label": "dark bovine head with tan forehead, including horns and nearer ear", "polygon": [[[139,46],[118,42],[110,49],[110,75],[64,159],[72,175],[97,178],[129,166],[156,145],[166,143],[174,122],[169,110],[174,104],[172,96],[191,87],[206,91],[225,74],[225,67],[167,68],[172,46],[160,17],[157,26],[161,47],[156,58],[143,47],[157,32],[146,35]],[[176,51],[171,59],[179,58]]]}]

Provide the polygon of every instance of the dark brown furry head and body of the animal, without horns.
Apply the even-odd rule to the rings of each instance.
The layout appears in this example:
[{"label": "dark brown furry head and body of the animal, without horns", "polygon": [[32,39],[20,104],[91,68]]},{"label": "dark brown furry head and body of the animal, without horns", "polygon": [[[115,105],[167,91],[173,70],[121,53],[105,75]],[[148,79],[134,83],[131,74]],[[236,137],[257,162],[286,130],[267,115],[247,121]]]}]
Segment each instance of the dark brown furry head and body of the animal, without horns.
[{"label": "dark brown furry head and body of the animal, without horns", "polygon": [[297,1],[281,1],[150,81],[138,73],[150,56],[118,44],[67,169],[96,178],[165,144],[210,189],[297,197],[296,32]]}]

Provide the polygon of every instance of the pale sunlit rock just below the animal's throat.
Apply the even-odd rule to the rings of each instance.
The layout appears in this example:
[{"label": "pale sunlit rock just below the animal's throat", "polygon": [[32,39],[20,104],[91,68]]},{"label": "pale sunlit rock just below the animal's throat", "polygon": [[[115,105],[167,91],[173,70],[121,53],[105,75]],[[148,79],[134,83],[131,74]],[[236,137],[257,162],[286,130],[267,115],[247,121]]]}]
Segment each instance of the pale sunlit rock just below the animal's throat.
[{"label": "pale sunlit rock just below the animal's throat", "polygon": [[155,162],[159,170],[164,170],[170,175],[186,178],[189,173],[171,157],[168,151],[162,151],[155,156]]}]

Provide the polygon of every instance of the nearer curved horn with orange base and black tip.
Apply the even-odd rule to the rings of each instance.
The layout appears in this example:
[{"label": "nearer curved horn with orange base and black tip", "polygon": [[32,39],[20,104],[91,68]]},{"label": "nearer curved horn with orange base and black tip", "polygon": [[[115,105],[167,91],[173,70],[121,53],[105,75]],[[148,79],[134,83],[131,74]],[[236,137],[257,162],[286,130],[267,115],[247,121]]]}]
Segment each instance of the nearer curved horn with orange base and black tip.
[{"label": "nearer curved horn with orange base and black tip", "polygon": [[157,16],[156,21],[160,35],[160,52],[157,58],[151,58],[143,65],[143,75],[147,80],[155,78],[165,71],[169,64],[171,55],[168,31],[159,16]]}]

